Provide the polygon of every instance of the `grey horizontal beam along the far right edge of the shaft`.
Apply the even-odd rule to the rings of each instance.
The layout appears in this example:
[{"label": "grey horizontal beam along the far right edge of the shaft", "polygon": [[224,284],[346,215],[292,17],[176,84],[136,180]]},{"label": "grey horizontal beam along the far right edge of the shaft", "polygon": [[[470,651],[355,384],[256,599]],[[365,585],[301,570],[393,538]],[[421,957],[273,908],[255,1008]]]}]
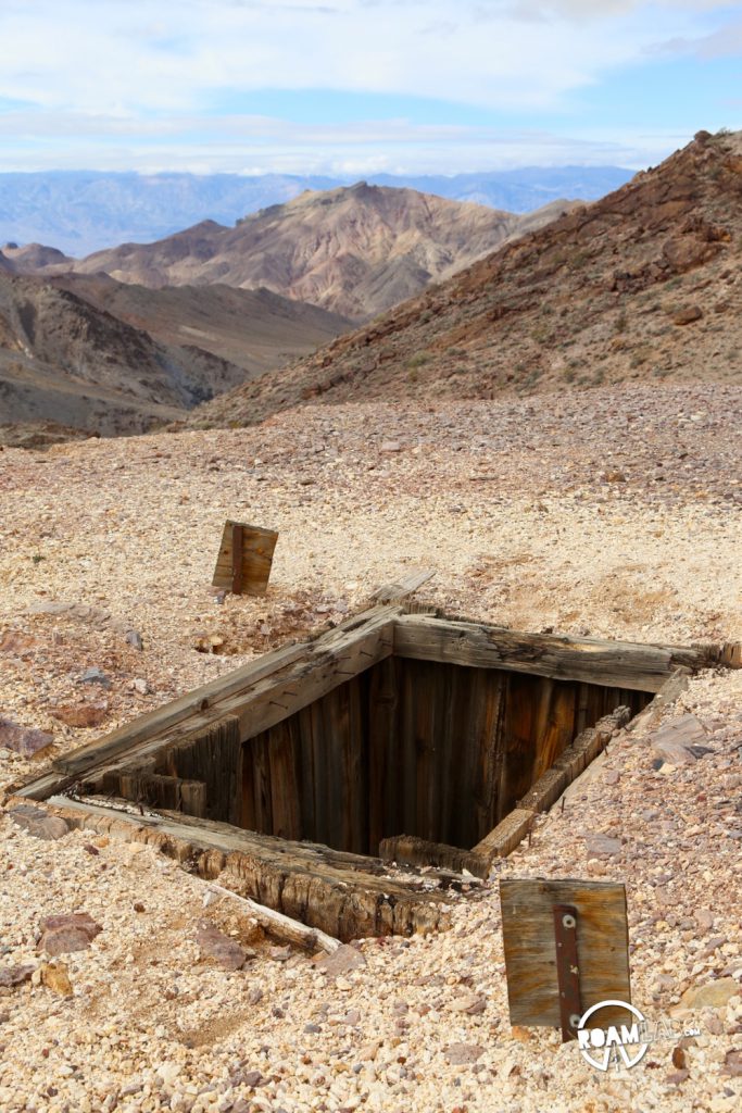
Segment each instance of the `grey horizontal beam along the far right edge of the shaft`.
[{"label": "grey horizontal beam along the far right edge of the shaft", "polygon": [[714,647],[642,646],[521,633],[425,614],[403,614],[395,621],[394,652],[415,660],[448,661],[655,692],[679,666],[698,670],[709,664]]}]

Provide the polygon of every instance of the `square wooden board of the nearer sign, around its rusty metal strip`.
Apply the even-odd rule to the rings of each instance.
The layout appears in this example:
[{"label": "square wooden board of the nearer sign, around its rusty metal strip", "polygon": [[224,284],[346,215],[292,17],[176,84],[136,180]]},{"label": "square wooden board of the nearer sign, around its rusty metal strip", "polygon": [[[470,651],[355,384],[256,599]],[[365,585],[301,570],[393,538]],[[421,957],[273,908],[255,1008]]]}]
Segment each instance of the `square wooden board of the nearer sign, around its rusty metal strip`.
[{"label": "square wooden board of the nearer sign, around its rusty metal strip", "polygon": [[[560,1027],[553,906],[577,909],[577,954],[583,1008],[602,1001],[631,1004],[626,893],[612,881],[499,883],[507,995],[512,1024]],[[619,1014],[619,1022],[625,1014]],[[606,1009],[601,1023],[613,1023]]]}]

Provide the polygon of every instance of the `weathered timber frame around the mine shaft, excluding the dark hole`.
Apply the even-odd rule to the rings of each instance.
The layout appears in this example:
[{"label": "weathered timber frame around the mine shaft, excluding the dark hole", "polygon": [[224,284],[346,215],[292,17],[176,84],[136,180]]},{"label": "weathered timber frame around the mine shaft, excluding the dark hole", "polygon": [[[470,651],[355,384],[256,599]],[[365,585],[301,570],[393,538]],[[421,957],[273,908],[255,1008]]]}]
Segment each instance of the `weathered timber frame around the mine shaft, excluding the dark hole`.
[{"label": "weathered timber frame around the mine shaft, excluding the dark hole", "polygon": [[[234,791],[236,775],[224,774],[225,761],[234,761],[248,740],[392,657],[600,684],[646,699],[663,690],[670,695],[700,669],[740,667],[739,646],[522,633],[405,605],[402,597],[410,588],[403,581],[397,589],[396,597],[387,590],[384,601],[335,629],[260,657],[55,760],[50,771],[16,791],[11,806],[44,801],[73,827],[151,844],[206,878],[225,873],[238,892],[340,939],[425,932],[446,926],[452,889],[468,892],[471,875],[486,877],[493,859],[530,834],[535,816],[625,725],[625,709],[580,730],[567,745],[562,735],[548,768],[471,849],[400,834],[382,840],[380,857],[369,857],[205,818],[207,792]],[[181,762],[198,767],[199,776],[188,777]],[[168,764],[170,772],[162,772]],[[142,799],[147,806],[136,802]]]}]

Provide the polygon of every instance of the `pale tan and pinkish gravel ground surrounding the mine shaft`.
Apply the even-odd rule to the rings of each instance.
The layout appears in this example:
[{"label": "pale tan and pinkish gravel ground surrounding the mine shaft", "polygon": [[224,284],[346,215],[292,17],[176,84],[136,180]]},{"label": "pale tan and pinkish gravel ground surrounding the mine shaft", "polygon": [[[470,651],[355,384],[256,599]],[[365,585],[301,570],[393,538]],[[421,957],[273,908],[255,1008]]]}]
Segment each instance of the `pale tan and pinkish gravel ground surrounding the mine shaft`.
[{"label": "pale tan and pinkish gravel ground surrounding the mine shaft", "polygon": [[[0,789],[413,568],[436,569],[439,605],[512,627],[742,640],[741,402],[663,386],[318,406],[3,451],[0,716],[53,741],[34,759],[0,749]],[[226,516],[280,531],[265,599],[219,604],[209,588]],[[221,652],[199,652],[212,637]],[[82,682],[90,668],[102,682]],[[739,1109],[742,672],[695,678],[666,715],[689,711],[710,751],[694,765],[655,769],[651,738],[620,735],[451,932],[366,940],[338,977],[148,848],[44,841],[2,816],[0,1109]],[[620,853],[590,857],[595,834]],[[512,1030],[498,876],[625,881],[634,1003],[652,1020],[681,1008],[701,1035],[604,1076],[556,1032]],[[41,920],[72,912],[102,930],[51,958]],[[254,947],[244,969],[202,956],[204,918]],[[18,966],[30,979],[4,985]],[[682,995],[713,981],[716,1005],[687,1013]]]}]

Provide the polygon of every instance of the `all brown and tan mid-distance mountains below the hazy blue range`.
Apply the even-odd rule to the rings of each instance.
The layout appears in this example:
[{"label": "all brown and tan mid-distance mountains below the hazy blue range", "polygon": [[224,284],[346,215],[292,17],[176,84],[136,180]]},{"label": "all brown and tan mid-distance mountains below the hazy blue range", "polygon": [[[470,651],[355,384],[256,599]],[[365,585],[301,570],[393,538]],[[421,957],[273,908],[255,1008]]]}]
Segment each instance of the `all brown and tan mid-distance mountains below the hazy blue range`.
[{"label": "all brown and tan mid-distance mountains below the hazy blue range", "polygon": [[182,418],[574,206],[517,216],[358,183],[79,260],[6,246],[0,442]]}]

